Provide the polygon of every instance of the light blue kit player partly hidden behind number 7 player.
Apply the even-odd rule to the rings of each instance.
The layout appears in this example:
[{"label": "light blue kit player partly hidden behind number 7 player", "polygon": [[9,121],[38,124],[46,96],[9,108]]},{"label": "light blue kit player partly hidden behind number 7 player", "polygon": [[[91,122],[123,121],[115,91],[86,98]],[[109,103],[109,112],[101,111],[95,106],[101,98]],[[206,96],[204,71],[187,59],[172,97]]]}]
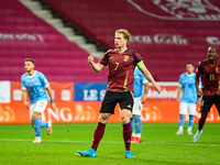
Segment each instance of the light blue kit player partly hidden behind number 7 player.
[{"label": "light blue kit player partly hidden behind number 7 player", "polygon": [[[134,69],[133,91],[134,91],[134,105],[133,105],[133,110],[132,110],[132,114],[130,119],[130,124],[132,129],[131,143],[141,143],[142,142],[141,140],[141,132],[142,132],[141,110],[142,110],[143,103],[146,102],[146,95],[148,92],[148,80],[144,77],[144,75],[138,67],[135,67]],[[136,134],[134,133],[134,128],[135,128]]]}]

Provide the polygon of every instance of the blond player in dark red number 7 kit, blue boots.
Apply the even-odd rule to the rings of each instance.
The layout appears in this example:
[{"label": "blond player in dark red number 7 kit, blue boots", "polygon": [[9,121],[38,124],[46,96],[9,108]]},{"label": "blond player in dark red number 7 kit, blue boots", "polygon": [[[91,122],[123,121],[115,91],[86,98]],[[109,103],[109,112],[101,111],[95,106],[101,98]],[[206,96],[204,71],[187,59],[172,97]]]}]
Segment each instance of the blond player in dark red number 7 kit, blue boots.
[{"label": "blond player in dark red number 7 kit, blue boots", "polygon": [[118,30],[114,35],[114,50],[109,50],[99,63],[94,62],[94,56],[88,57],[91,68],[99,73],[106,66],[109,68],[108,87],[100,108],[100,116],[97,129],[94,133],[91,148],[78,151],[77,153],[86,157],[96,157],[96,151],[100,140],[103,136],[106,124],[111,114],[114,113],[114,107],[119,102],[121,108],[121,122],[123,125],[123,140],[125,144],[125,157],[135,158],[130,151],[131,145],[131,125],[130,117],[133,108],[133,81],[135,66],[143,73],[144,77],[152,82],[156,91],[161,87],[155,82],[151,73],[146,69],[143,59],[135,51],[127,47],[130,40],[130,33],[127,30]]}]

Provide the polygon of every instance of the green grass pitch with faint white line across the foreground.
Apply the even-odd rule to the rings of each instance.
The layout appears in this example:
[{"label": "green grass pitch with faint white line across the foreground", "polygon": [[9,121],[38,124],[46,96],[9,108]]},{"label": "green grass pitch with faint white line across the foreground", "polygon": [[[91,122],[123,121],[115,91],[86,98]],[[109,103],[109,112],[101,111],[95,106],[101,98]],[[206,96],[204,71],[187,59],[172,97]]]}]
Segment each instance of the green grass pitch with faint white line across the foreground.
[{"label": "green grass pitch with faint white line across the foreground", "polygon": [[[0,125],[0,165],[216,165],[220,164],[220,125],[206,124],[197,143],[193,135],[175,135],[177,124],[143,124],[142,143],[131,144],[135,160],[124,157],[121,124],[108,124],[97,157],[76,155],[91,146],[97,124],[54,124],[53,134],[42,129],[33,144],[29,124]],[[185,130],[187,124],[185,124]],[[197,130],[194,125],[193,132]]]}]

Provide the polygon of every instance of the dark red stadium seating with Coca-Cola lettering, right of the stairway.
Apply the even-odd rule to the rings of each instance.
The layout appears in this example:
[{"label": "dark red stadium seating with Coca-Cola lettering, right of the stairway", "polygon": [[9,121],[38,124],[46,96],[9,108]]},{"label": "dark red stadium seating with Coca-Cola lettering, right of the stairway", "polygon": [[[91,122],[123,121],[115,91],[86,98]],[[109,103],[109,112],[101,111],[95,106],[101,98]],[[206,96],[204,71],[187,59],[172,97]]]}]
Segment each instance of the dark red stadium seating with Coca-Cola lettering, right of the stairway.
[{"label": "dark red stadium seating with Coca-Cola lettering, right of the stairway", "polygon": [[[158,81],[177,81],[193,62],[206,58],[209,46],[220,46],[220,1],[41,0],[62,13],[98,45],[114,47],[113,33],[132,34],[130,48],[139,52]],[[217,42],[208,42],[210,36]]]}]

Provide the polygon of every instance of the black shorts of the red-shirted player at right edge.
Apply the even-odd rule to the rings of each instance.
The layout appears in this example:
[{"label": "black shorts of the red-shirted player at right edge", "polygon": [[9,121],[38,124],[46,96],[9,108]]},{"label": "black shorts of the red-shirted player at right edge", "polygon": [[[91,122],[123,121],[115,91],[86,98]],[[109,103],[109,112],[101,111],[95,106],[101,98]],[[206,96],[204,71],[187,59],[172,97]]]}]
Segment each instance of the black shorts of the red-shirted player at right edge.
[{"label": "black shorts of the red-shirted player at right edge", "polygon": [[209,112],[212,105],[216,105],[218,111],[220,111],[220,96],[202,96],[200,112]]}]

